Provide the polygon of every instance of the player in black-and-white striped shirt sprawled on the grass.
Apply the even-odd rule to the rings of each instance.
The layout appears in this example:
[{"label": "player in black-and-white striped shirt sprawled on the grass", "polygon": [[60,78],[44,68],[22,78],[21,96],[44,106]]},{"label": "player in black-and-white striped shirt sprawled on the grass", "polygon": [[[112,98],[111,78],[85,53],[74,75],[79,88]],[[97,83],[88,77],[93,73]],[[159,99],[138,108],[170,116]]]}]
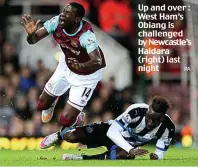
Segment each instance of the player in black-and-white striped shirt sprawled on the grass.
[{"label": "player in black-and-white striped shirt sprawled on the grass", "polygon": [[[166,114],[170,107],[167,99],[156,96],[150,105],[132,104],[115,120],[66,128],[57,133],[59,138],[71,143],[79,142],[88,147],[106,146],[108,151],[93,156],[64,154],[62,159],[134,159],[135,156],[148,153],[139,146],[153,139],[157,140],[156,150],[150,153],[150,159],[163,159],[175,134],[175,125]],[[53,136],[54,134],[49,135],[51,141]]]}]

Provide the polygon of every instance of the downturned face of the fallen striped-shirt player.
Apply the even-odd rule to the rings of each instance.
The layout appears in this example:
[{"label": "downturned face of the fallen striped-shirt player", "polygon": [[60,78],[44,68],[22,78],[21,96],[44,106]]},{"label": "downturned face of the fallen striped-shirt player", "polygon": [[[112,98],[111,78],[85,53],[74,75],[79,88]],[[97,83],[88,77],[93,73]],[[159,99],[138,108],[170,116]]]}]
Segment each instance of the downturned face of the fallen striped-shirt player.
[{"label": "downturned face of the fallen striped-shirt player", "polygon": [[164,114],[154,112],[151,107],[149,107],[146,113],[146,128],[154,129],[163,121]]}]

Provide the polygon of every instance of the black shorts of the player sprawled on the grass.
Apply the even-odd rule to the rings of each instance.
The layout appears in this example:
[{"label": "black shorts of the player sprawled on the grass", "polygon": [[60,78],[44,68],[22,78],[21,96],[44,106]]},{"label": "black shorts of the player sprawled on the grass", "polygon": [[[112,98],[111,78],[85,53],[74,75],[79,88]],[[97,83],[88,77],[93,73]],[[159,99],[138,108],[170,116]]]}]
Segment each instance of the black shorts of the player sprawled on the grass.
[{"label": "black shorts of the player sprawled on the grass", "polygon": [[100,146],[107,147],[108,150],[111,149],[115,144],[111,139],[107,137],[107,131],[110,125],[108,123],[93,123],[82,127],[76,127],[76,129],[81,128],[85,133],[86,145],[89,148],[95,148]]}]

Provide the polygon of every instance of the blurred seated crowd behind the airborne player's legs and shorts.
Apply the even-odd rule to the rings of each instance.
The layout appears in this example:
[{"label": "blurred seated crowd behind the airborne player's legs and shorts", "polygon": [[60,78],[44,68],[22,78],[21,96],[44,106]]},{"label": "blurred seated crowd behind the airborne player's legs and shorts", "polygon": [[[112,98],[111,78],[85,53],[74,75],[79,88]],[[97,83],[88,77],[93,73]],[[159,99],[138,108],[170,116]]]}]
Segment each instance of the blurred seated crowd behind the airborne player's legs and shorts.
[{"label": "blurred seated crowd behind the airborne player's legs and shorts", "polygon": [[[58,118],[68,92],[57,106],[54,119],[42,124],[41,112],[37,111],[37,100],[52,71],[38,60],[37,68],[20,66],[14,46],[5,42],[2,48],[0,75],[0,136],[45,136],[59,129]],[[132,88],[115,89],[115,80],[99,83],[91,101],[85,108],[86,123],[107,121],[121,114],[133,103]]]}]

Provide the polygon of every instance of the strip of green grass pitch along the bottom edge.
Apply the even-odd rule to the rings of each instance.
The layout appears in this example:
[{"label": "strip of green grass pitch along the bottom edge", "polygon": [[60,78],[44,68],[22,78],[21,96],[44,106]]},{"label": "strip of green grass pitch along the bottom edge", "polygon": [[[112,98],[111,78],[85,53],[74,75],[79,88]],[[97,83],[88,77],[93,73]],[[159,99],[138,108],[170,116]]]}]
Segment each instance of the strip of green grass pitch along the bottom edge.
[{"label": "strip of green grass pitch along the bottom edge", "polygon": [[[153,151],[154,147],[146,147]],[[198,149],[170,148],[161,161],[149,160],[148,156],[135,160],[92,160],[92,161],[62,161],[63,153],[96,154],[101,149],[77,150],[46,150],[46,151],[11,151],[0,150],[0,166],[198,166]]]}]

